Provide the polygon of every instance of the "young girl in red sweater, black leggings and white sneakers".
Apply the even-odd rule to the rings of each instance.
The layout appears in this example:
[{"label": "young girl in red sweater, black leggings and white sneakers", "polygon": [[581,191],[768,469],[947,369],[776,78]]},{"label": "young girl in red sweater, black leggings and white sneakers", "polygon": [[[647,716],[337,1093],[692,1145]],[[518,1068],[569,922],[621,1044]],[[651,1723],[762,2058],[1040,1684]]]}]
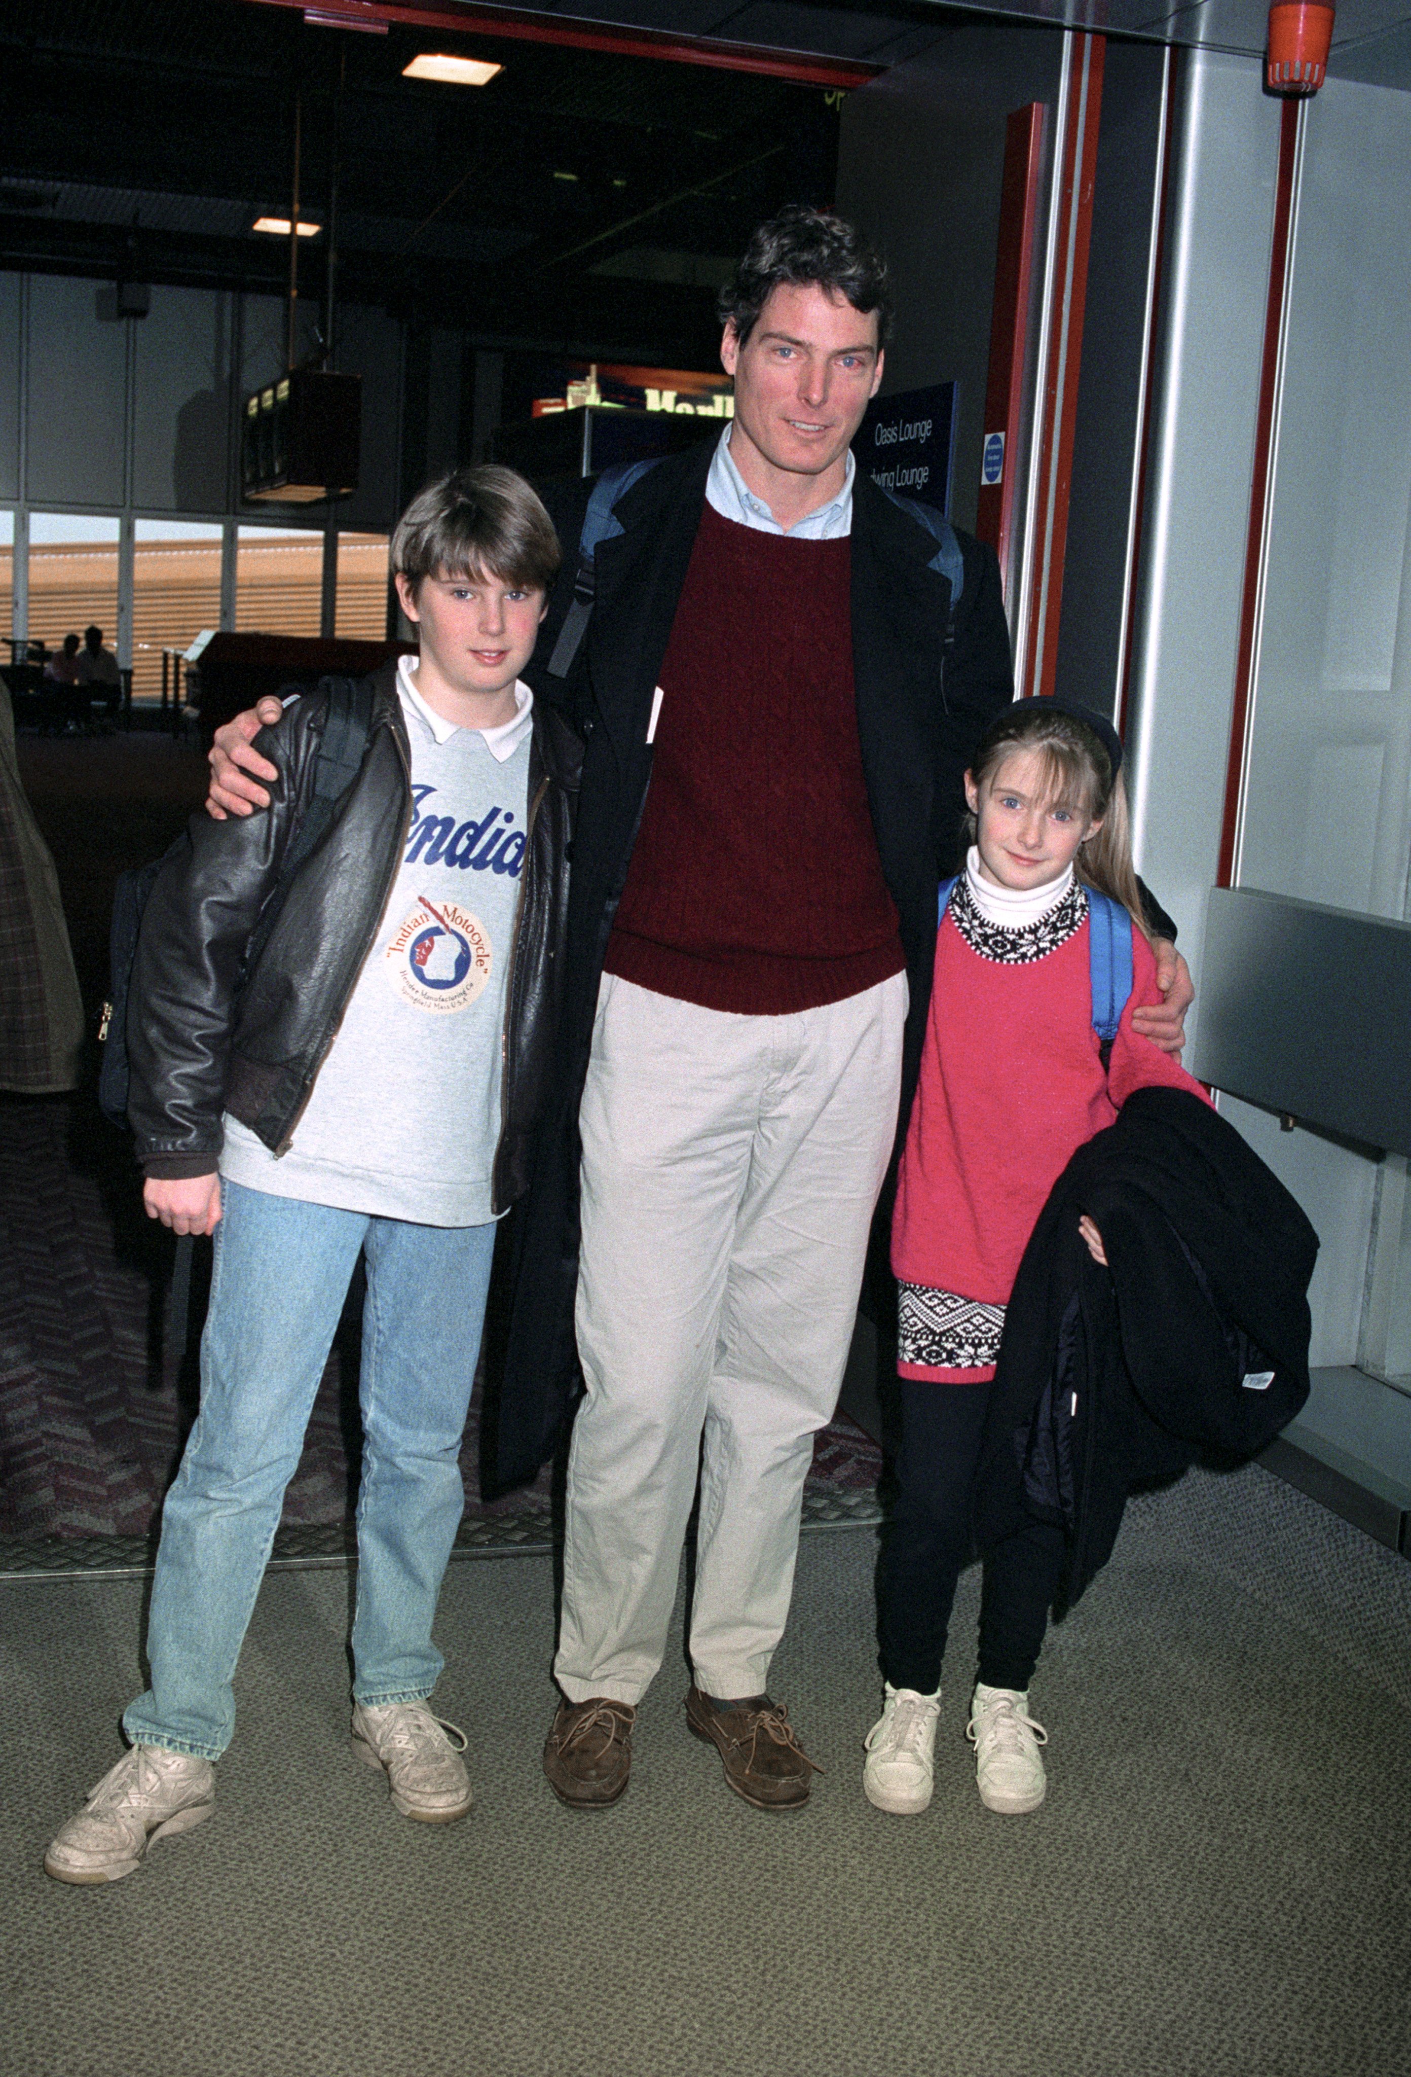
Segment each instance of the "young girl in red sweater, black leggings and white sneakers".
[{"label": "young girl in red sweater, black leggings and white sneakers", "polygon": [[[971,1543],[971,1483],[1004,1306],[1044,1201],[1071,1155],[1150,1082],[1199,1090],[1131,1028],[1160,1001],[1131,862],[1123,746],[1087,708],[1021,700],[965,775],[973,845],[936,935],[921,1082],[896,1188],[901,1493],[882,1558],[886,1703],[863,1788],[923,1811],[940,1662]],[[1133,991],[1104,1068],[1091,1024],[1087,887],[1131,914]],[[1083,1238],[1104,1261],[1089,1219]],[[1062,1574],[1062,1531],[1029,1522],[986,1558],[979,1678],[967,1736],[994,1811],[1044,1801],[1048,1743],[1029,1676]]]}]

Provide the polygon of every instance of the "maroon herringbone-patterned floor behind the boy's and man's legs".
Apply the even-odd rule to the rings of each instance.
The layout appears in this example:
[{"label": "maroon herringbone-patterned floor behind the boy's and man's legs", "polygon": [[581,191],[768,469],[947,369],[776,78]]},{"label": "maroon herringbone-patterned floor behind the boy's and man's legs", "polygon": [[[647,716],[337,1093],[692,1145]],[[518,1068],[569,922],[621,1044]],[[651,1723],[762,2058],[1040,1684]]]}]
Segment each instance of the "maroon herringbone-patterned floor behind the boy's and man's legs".
[{"label": "maroon herringbone-patterned floor behind the boy's and man's legs", "polygon": [[[172,1240],[141,1213],[125,1138],[83,1093],[0,1099],[0,1539],[145,1537],[195,1417],[189,1352],[164,1346]],[[467,1535],[548,1516],[548,1471],[479,1498],[477,1408],[461,1458]],[[284,1525],[342,1522],[357,1464],[357,1321],[344,1315],[284,1498]],[[818,1439],[809,1514],[849,1518],[878,1481],[849,1421]]]}]

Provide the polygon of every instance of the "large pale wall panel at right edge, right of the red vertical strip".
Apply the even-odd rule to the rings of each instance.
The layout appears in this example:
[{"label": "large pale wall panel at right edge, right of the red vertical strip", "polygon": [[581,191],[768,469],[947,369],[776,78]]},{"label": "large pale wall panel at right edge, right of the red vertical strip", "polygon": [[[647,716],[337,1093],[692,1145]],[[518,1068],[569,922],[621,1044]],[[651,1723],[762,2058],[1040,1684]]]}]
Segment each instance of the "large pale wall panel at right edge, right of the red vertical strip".
[{"label": "large pale wall panel at right edge, right of the red vertical strip", "polygon": [[[1411,96],[1305,118],[1239,885],[1405,914]],[[1399,638],[1399,621],[1405,629]]]}]

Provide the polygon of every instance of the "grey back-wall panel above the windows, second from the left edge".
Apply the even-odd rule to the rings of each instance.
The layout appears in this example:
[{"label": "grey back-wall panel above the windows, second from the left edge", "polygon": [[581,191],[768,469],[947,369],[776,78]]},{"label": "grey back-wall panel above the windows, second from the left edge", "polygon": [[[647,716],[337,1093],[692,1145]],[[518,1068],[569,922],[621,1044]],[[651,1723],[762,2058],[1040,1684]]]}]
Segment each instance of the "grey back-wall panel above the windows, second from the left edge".
[{"label": "grey back-wall panel above the windows, second from the left edge", "polygon": [[98,316],[102,287],[29,276],[23,494],[37,507],[122,505],[129,326]]}]

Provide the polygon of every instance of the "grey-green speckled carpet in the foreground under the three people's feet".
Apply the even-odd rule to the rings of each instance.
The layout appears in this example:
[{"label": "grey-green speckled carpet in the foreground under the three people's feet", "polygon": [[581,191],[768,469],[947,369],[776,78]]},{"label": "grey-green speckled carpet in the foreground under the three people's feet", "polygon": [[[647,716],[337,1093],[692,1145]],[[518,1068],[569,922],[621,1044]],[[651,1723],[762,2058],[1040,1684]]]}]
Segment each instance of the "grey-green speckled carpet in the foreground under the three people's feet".
[{"label": "grey-green speckled carpet in the foreground under the three people's feet", "polygon": [[1033,1684],[1050,1795],[981,1809],[975,1574],[936,1797],[861,1795],[867,1529],[807,1537],[774,1666],[826,1768],[728,1795],[679,1633],[620,1805],[542,1774],[552,1566],[452,1566],[438,1707],[475,1809],[400,1819],[347,1745],[347,1574],[264,1587],[210,1824],[42,1873],[139,1682],[141,1581],[0,1583],[0,2077],[1405,2077],[1411,1566],[1260,1468],[1129,1510]]}]

